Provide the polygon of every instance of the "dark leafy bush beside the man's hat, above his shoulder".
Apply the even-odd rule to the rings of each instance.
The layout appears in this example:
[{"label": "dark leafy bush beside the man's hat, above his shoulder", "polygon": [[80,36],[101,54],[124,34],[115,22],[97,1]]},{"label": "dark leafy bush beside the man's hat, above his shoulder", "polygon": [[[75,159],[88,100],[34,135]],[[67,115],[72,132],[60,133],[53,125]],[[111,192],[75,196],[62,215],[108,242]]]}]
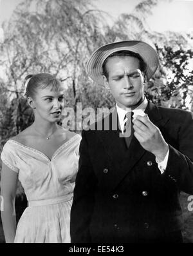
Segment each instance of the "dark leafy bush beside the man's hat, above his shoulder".
[{"label": "dark leafy bush beside the man's hat, above his shoulder", "polygon": [[147,84],[147,94],[157,104],[172,108],[192,110],[193,68],[189,71],[193,56],[192,50],[172,49],[170,46],[159,48],[160,68],[154,83]]}]

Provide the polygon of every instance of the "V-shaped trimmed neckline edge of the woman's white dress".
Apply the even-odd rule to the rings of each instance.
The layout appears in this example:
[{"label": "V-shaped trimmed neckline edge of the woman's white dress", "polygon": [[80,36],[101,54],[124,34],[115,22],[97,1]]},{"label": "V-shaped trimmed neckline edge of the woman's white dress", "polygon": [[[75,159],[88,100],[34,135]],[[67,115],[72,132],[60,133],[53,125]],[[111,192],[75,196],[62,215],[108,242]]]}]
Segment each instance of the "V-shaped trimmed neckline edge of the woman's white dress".
[{"label": "V-shaped trimmed neckline edge of the woman's white dress", "polygon": [[80,136],[79,134],[76,134],[73,137],[71,137],[68,141],[65,141],[61,146],[59,146],[59,148],[57,148],[57,150],[55,150],[51,159],[50,159],[50,157],[48,157],[45,153],[41,152],[40,150],[37,150],[37,149],[32,148],[30,146],[26,146],[23,143],[19,143],[18,141],[15,141],[14,139],[9,139],[8,141],[12,141],[13,143],[18,144],[19,146],[22,146],[23,148],[27,148],[28,150],[39,153],[40,155],[42,155],[44,158],[46,158],[48,161],[51,162],[54,159],[54,157],[60,152],[60,150],[62,150],[66,146],[68,146],[68,144],[71,143],[71,141],[73,141],[75,139],[75,137],[79,137],[79,136]]}]

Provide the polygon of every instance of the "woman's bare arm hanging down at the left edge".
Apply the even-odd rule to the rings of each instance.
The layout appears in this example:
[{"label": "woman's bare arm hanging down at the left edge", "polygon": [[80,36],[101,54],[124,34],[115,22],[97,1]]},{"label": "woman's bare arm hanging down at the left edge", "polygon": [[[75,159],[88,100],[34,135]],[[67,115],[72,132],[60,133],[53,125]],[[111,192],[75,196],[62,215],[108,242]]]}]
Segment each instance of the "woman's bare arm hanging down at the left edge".
[{"label": "woman's bare arm hanging down at the left edge", "polygon": [[12,171],[2,162],[1,170],[1,219],[5,241],[13,243],[16,231],[15,193],[17,189],[18,173]]}]

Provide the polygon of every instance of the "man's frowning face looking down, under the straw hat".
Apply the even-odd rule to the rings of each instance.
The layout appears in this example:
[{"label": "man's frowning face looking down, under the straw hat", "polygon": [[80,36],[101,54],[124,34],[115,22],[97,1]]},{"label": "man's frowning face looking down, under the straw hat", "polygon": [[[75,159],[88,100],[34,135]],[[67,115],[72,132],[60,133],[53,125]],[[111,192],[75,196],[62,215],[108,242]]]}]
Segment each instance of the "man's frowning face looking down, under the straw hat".
[{"label": "man's frowning face looking down, under the straw hat", "polygon": [[136,57],[111,57],[107,60],[108,79],[106,86],[111,90],[118,106],[136,105],[143,96],[144,78],[140,70],[140,61]]}]

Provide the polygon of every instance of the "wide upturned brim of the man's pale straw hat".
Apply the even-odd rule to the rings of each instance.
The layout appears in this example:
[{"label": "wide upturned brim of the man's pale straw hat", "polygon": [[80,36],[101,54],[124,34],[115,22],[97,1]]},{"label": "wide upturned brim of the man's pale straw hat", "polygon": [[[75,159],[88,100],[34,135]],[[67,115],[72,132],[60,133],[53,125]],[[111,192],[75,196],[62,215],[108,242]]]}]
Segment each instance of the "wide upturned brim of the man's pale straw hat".
[{"label": "wide upturned brim of the man's pale straw hat", "polygon": [[86,65],[87,74],[97,84],[104,85],[102,77],[102,64],[105,59],[118,51],[127,50],[139,54],[146,64],[145,74],[147,81],[151,79],[159,65],[159,57],[156,50],[142,41],[120,41],[101,46],[89,58]]}]

